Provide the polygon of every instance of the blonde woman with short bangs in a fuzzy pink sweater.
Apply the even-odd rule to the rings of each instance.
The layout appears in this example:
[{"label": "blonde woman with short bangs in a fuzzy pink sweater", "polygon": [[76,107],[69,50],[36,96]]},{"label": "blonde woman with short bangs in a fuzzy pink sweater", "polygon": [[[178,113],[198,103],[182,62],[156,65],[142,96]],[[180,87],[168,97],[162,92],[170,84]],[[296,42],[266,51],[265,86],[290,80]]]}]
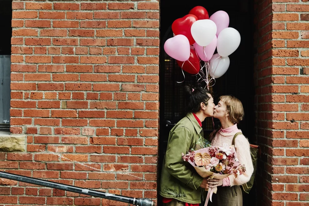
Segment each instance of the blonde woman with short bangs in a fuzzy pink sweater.
[{"label": "blonde woman with short bangs in a fuzzy pink sweater", "polygon": [[[243,119],[243,105],[236,97],[220,96],[218,105],[215,106],[213,117],[220,120],[221,128],[213,132],[212,145],[222,147],[224,143],[232,145],[236,133],[241,132],[237,128],[237,123]],[[246,171],[235,178],[230,175],[224,179],[208,179],[210,188],[218,187],[218,205],[242,206],[243,196],[240,185],[247,183],[253,173],[253,164],[250,155],[250,145],[247,138],[237,135],[235,139],[235,149],[240,164],[243,164]]]}]

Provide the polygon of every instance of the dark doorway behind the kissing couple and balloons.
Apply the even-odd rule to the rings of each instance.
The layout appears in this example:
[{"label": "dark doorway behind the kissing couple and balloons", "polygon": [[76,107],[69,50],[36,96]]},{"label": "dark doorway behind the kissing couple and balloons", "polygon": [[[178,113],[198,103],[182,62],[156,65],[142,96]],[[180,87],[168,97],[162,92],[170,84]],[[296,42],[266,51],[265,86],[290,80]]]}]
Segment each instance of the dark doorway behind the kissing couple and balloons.
[{"label": "dark doorway behind the kissing couple and balloons", "polygon": [[[169,57],[163,49],[164,42],[173,37],[171,25],[177,18],[189,13],[195,6],[203,6],[207,9],[209,16],[214,12],[223,10],[230,17],[229,27],[233,27],[241,35],[241,43],[238,49],[229,56],[230,66],[228,71],[216,79],[212,87],[215,104],[221,95],[236,96],[243,103],[245,117],[238,125],[243,134],[253,141],[254,138],[254,82],[253,82],[253,2],[249,0],[240,1],[160,1],[160,135],[159,135],[159,169],[158,188],[162,159],[166,151],[169,131],[181,118],[185,116],[186,99],[184,98],[183,86],[194,85],[197,77],[185,74],[183,80],[181,69],[177,62]],[[216,53],[216,52],[215,52]],[[217,124],[218,120],[215,120]],[[204,133],[213,130],[212,121],[203,123]],[[243,195],[243,205],[253,205],[256,202],[255,187],[249,195]],[[215,198],[214,198],[215,199]],[[250,201],[249,201],[250,200]],[[158,195],[158,205],[162,205],[162,199]],[[208,205],[216,205],[208,204]]]}]

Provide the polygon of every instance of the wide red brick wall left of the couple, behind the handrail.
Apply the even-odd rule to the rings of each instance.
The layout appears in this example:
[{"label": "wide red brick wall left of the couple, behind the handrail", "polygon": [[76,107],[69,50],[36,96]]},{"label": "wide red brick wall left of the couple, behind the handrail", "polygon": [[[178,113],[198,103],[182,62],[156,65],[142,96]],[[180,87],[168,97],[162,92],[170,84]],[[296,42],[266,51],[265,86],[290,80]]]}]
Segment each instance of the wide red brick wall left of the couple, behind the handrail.
[{"label": "wide red brick wall left of the couple, behind the handrail", "polygon": [[[156,199],[159,2],[12,2],[5,171]],[[3,183],[3,182],[2,182]],[[0,204],[126,205],[9,181]]]}]

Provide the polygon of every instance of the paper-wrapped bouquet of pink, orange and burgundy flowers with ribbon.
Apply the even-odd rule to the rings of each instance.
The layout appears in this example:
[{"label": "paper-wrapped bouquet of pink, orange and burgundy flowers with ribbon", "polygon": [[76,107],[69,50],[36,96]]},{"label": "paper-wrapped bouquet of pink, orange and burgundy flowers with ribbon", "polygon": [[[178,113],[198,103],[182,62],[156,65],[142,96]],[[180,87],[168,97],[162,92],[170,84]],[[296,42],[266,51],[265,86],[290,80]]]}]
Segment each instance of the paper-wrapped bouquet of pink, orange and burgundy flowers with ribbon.
[{"label": "paper-wrapped bouquet of pink, orange and burgundy flowers with ribbon", "polygon": [[[223,147],[209,146],[195,151],[190,150],[188,154],[182,154],[182,158],[203,178],[223,179],[232,174],[237,178],[246,171],[245,166],[241,165],[236,157],[235,148],[227,144],[223,144]],[[212,194],[216,191],[217,188],[210,188],[205,206],[209,199],[212,201]]]}]

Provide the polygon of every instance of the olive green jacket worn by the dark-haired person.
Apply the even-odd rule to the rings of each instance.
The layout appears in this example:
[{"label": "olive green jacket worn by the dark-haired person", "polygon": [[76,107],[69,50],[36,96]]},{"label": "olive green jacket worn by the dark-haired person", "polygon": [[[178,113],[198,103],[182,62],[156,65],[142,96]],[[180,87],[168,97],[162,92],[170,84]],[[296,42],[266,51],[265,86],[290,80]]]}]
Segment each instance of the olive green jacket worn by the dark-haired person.
[{"label": "olive green jacket worn by the dark-haired person", "polygon": [[192,113],[188,113],[169,132],[166,154],[163,159],[159,194],[165,198],[196,204],[201,203],[203,178],[192,165],[184,162],[181,153],[196,148],[203,130]]}]

